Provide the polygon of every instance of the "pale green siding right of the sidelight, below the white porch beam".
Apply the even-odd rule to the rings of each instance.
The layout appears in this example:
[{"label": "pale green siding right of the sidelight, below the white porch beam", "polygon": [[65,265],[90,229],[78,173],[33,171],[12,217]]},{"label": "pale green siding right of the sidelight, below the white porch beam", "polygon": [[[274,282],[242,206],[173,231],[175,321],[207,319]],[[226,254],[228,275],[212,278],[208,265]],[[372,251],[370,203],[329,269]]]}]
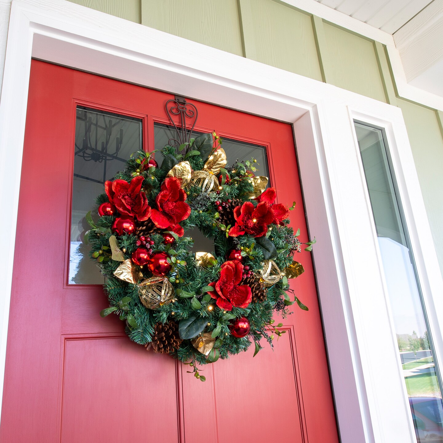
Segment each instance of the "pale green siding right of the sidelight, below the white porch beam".
[{"label": "pale green siding right of the sidelight, below the white porch beam", "polygon": [[397,98],[408,131],[427,218],[443,272],[443,140],[437,114]]}]

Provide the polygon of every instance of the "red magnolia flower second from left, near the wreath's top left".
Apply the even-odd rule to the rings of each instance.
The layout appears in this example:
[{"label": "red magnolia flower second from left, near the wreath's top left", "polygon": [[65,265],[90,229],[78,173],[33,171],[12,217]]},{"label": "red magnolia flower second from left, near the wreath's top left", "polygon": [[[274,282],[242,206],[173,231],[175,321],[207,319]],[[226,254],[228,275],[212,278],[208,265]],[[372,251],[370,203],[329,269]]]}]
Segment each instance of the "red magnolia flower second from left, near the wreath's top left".
[{"label": "red magnolia flower second from left, near the wreath's top left", "polygon": [[167,177],[155,200],[157,209],[151,211],[151,220],[155,226],[173,231],[182,237],[184,231],[179,221],[186,220],[191,213],[191,208],[185,203],[186,198],[186,192],[180,187],[180,179]]}]

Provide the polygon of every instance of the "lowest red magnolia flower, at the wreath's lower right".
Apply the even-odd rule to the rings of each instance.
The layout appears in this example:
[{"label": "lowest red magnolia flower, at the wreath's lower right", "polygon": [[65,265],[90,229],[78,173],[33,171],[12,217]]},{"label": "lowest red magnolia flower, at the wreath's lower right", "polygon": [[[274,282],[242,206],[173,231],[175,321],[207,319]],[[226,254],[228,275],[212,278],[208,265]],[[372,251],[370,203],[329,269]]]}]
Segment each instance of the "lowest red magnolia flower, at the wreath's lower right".
[{"label": "lowest red magnolia flower, at the wreath's lower right", "polygon": [[243,275],[243,265],[238,260],[225,261],[221,265],[220,278],[209,286],[215,291],[209,292],[219,308],[232,311],[233,307],[247,307],[252,300],[251,288],[247,284],[239,285]]}]

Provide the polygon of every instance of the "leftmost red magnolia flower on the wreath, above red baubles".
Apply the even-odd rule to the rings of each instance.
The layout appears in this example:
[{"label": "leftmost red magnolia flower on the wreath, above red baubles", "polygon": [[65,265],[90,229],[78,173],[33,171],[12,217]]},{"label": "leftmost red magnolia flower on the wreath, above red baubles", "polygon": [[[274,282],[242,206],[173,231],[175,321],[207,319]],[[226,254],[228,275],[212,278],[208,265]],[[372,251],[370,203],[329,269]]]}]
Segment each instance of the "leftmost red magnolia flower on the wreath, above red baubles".
[{"label": "leftmost red magnolia flower on the wreath, above red baubles", "polygon": [[109,202],[122,215],[136,217],[137,220],[148,220],[151,215],[151,206],[144,192],[140,192],[143,177],[138,175],[128,183],[126,180],[108,180],[105,182],[105,191]]}]

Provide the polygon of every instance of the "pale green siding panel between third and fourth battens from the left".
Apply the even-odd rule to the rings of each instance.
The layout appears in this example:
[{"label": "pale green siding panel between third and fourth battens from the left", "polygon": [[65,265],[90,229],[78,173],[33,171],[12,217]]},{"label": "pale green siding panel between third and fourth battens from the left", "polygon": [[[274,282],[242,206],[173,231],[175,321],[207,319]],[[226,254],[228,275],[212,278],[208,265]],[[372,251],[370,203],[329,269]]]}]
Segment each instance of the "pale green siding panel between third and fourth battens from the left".
[{"label": "pale green siding panel between third and fourth battens from the left", "polygon": [[323,24],[330,82],[366,97],[386,101],[373,43]]}]

